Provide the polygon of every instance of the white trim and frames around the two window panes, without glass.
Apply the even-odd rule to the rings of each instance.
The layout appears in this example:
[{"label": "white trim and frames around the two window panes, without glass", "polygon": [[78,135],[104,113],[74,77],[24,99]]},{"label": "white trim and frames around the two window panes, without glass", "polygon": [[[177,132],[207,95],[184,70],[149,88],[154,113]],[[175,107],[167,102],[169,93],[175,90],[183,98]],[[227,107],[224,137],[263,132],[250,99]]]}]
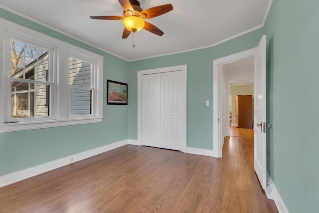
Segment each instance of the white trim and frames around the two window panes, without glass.
[{"label": "white trim and frames around the two window panes, without glass", "polygon": [[[7,48],[9,46],[7,39],[16,38],[20,40],[27,39],[32,43],[39,44],[42,47],[48,48],[53,54],[54,60],[49,76],[52,79],[53,89],[50,91],[50,116],[41,118],[24,118],[17,123],[7,119],[7,107],[11,107],[7,97],[9,78],[7,77],[8,57]],[[77,124],[88,124],[102,122],[103,119],[103,56],[88,50],[73,46],[69,43],[44,35],[40,32],[28,29],[10,21],[0,19],[0,133],[12,132],[30,129],[40,129],[48,127],[58,127]],[[4,42],[5,41],[5,42]],[[33,42],[34,41],[34,42]],[[8,46],[4,46],[4,44]],[[4,52],[6,49],[6,52]],[[10,47],[9,47],[10,49]],[[84,116],[69,115],[69,94],[65,91],[69,90],[68,83],[68,56],[83,58],[86,61],[92,62],[92,114]],[[6,60],[6,61],[5,61]],[[95,66],[95,67],[93,67]],[[93,70],[96,69],[96,71]],[[27,80],[27,79],[25,79]],[[24,80],[23,80],[24,81]],[[43,82],[42,82],[43,83]],[[44,84],[51,84],[44,82]],[[7,106],[9,105],[9,106]]]}]

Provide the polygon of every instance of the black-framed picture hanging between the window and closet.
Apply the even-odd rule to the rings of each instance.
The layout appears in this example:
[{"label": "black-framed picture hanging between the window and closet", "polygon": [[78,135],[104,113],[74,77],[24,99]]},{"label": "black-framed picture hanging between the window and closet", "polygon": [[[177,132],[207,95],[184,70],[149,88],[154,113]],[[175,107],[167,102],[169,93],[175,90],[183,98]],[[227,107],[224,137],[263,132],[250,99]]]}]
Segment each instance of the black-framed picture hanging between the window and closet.
[{"label": "black-framed picture hanging between the window and closet", "polygon": [[128,104],[128,84],[107,80],[107,104]]}]

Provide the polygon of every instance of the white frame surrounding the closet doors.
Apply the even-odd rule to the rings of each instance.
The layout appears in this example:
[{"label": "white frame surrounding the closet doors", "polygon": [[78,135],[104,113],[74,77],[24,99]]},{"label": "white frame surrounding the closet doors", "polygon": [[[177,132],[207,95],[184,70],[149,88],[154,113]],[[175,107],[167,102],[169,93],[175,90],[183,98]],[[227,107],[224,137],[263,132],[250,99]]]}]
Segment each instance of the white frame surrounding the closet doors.
[{"label": "white frame surrounding the closet doors", "polygon": [[187,64],[162,67],[156,69],[139,70],[138,77],[138,142],[136,145],[142,146],[142,75],[156,74],[163,72],[182,71],[182,152],[186,152],[187,139]]}]

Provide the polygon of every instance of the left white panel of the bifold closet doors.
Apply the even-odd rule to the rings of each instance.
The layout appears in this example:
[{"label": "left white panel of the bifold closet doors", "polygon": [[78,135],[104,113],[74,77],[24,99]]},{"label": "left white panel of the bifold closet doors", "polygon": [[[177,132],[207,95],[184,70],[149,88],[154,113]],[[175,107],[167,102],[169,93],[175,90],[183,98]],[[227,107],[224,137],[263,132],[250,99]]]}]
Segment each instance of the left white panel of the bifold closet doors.
[{"label": "left white panel of the bifold closet doors", "polygon": [[142,76],[142,145],[160,147],[160,73]]}]

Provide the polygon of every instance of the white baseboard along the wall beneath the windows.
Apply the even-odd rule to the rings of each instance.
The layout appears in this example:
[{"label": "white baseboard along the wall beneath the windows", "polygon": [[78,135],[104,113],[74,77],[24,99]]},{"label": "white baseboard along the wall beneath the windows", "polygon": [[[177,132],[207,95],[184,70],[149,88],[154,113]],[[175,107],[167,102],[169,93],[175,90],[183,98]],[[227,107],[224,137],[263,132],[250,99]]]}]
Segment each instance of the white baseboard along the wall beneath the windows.
[{"label": "white baseboard along the wall beneath the windows", "polygon": [[[86,158],[90,158],[92,156],[101,154],[103,152],[110,151],[112,149],[127,145],[129,143],[129,140],[119,141],[113,144],[108,144],[103,147],[98,147],[92,150],[88,150],[85,152],[81,152],[75,155],[70,155],[68,157],[64,157],[55,161],[50,161],[48,163],[40,164],[28,169],[20,170],[14,173],[10,173],[4,176],[0,177],[0,187],[4,187],[13,183],[16,183],[18,181],[22,181],[27,178],[31,178],[33,176],[57,169],[59,167],[66,166],[68,164],[81,161]],[[70,159],[73,159],[72,162],[70,162]]]}]

